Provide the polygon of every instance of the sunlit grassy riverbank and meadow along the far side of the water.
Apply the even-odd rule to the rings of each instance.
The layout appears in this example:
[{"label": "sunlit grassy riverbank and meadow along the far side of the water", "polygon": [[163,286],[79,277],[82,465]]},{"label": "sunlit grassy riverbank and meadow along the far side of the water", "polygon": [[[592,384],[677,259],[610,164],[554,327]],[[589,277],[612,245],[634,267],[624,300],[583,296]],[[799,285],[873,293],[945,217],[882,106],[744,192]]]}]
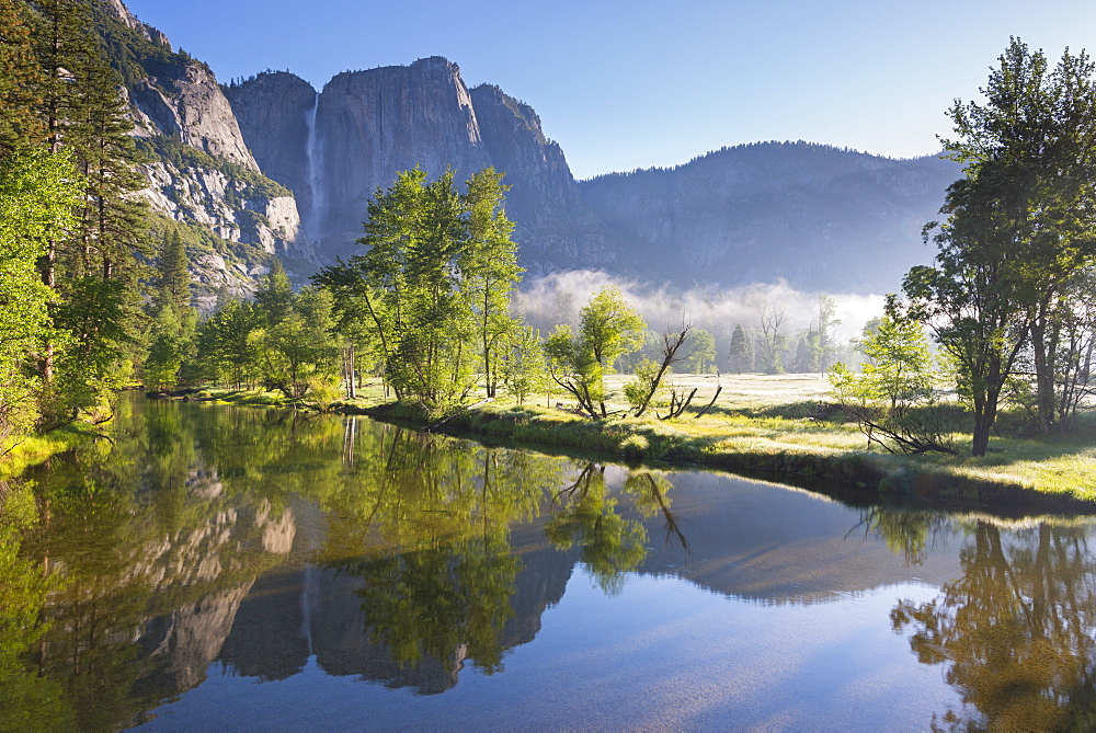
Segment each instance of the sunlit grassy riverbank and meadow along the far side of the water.
[{"label": "sunlit grassy riverbank and meadow along the far side of the water", "polygon": [[[722,405],[721,398],[722,406],[699,419],[686,414],[667,422],[646,416],[591,421],[555,408],[517,405],[509,398],[458,411],[444,421],[427,420],[408,405],[386,401],[379,389],[331,406],[343,414],[450,435],[596,451],[629,461],[703,466],[774,480],[821,479],[880,494],[1007,504],[1016,509],[1096,508],[1096,443],[1092,439],[996,437],[992,451],[981,458],[892,455],[868,449],[855,424],[820,417],[826,413],[824,402],[818,401],[820,380],[738,379],[723,377],[724,383],[730,382],[723,393],[730,392],[733,406]],[[762,390],[767,390],[767,399],[757,397]],[[809,399],[780,403],[780,393]],[[277,396],[255,392],[206,390],[198,399],[210,398],[292,406]],[[960,453],[969,454],[969,443],[962,443],[967,436],[956,435],[956,439]]]}]

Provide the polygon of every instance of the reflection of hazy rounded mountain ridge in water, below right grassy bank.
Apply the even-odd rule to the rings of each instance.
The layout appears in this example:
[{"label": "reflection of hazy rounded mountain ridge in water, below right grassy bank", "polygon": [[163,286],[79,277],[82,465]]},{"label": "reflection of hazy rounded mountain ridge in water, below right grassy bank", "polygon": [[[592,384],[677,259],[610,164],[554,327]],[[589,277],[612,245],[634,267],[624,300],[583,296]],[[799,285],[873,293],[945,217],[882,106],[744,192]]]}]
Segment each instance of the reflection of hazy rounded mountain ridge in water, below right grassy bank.
[{"label": "reflection of hazy rounded mountain ridge in water, below right grassy bank", "polygon": [[[690,553],[652,541],[643,573],[681,575],[764,603],[817,603],[914,576],[946,582],[957,572],[946,539],[910,566],[836,502],[731,477],[678,473],[672,480],[673,514]],[[644,524],[651,538],[665,535],[661,517]]]}]

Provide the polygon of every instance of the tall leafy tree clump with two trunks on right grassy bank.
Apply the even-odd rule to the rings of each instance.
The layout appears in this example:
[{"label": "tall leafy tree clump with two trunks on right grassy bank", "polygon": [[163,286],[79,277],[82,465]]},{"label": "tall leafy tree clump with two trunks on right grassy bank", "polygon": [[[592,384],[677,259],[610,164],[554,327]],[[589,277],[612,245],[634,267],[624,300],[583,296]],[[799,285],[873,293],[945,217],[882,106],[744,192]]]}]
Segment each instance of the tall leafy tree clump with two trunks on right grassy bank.
[{"label": "tall leafy tree clump with two trunks on right grassy bank", "polygon": [[1061,302],[1096,255],[1096,85],[1093,64],[1066,51],[1048,73],[1041,51],[1013,38],[985,89],[956,103],[945,141],[967,177],[948,190],[926,232],[936,263],[906,276],[911,312],[931,323],[974,413],[972,454],[985,455],[1003,389],[1030,341],[1043,431],[1054,414]]}]

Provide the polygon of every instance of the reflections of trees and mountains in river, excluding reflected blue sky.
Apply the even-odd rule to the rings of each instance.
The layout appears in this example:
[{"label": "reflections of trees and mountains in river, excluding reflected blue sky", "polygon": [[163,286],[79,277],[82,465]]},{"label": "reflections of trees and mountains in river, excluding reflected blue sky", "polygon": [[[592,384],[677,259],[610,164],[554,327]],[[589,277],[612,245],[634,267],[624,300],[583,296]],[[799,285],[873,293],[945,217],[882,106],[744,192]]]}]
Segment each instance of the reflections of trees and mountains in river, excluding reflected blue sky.
[{"label": "reflections of trees and mountains in river, excluding reflected blue sky", "polygon": [[[273,685],[316,672],[448,698],[468,675],[507,677],[576,564],[612,598],[639,575],[680,579],[773,619],[931,587],[935,599],[892,597],[879,619],[955,690],[921,724],[1087,722],[1096,607],[1081,522],[853,509],[357,419],[124,408],[115,443],[0,489],[5,722],[139,724],[210,677]],[[706,633],[692,633],[697,658],[726,641]],[[741,643],[766,664],[787,655],[753,638]]]}]

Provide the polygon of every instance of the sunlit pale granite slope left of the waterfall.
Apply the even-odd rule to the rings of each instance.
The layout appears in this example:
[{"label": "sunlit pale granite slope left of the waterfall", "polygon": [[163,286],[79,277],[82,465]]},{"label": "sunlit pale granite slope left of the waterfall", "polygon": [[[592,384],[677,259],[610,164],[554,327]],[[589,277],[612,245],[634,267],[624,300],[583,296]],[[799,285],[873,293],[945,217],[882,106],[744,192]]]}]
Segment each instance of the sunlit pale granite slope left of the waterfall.
[{"label": "sunlit pale granite slope left of the waterfall", "polygon": [[[311,262],[290,191],[262,174],[209,68],[121,2],[96,5],[100,31],[123,69],[152,211],[183,225],[199,306],[216,291],[255,288],[277,255]],[[155,228],[160,228],[155,226]],[[210,251],[212,250],[212,251]]]}]

